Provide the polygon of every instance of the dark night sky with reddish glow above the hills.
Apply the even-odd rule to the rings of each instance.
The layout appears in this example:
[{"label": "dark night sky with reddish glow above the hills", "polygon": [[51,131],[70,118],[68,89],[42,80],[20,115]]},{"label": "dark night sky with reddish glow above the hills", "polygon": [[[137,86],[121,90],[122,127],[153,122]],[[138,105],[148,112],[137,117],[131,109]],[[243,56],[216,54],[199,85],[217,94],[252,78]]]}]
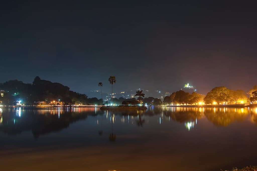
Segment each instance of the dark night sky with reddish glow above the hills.
[{"label": "dark night sky with reddish glow above the hills", "polygon": [[254,1],[2,1],[0,82],[35,76],[83,93],[257,84]]}]

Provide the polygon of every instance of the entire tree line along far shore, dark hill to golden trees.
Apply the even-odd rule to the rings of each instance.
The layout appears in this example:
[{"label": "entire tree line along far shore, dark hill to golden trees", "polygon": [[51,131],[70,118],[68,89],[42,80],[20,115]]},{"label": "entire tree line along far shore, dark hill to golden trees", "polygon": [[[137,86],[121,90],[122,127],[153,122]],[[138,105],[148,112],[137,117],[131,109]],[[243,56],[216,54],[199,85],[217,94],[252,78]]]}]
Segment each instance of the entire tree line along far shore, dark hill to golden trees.
[{"label": "entire tree line along far shore, dark hill to golden trees", "polygon": [[[115,76],[110,76],[109,83],[116,83]],[[103,83],[99,82],[98,86],[101,88]],[[22,101],[24,105],[37,105],[41,101],[50,103],[52,100],[60,100],[64,105],[202,105],[202,104],[245,104],[257,103],[257,85],[247,92],[249,98],[243,90],[231,90],[226,87],[215,87],[207,95],[201,95],[197,92],[191,94],[182,90],[171,93],[170,96],[164,97],[163,101],[159,98],[144,97],[145,94],[142,90],[136,91],[135,96],[138,98],[124,99],[113,98],[111,101],[103,101],[102,99],[88,98],[85,94],[80,94],[71,91],[69,87],[63,86],[60,83],[52,83],[47,80],[41,80],[38,76],[35,77],[32,83],[23,83],[18,80],[9,80],[5,83],[0,83],[1,92],[0,102],[2,105],[15,105],[16,101]]]}]

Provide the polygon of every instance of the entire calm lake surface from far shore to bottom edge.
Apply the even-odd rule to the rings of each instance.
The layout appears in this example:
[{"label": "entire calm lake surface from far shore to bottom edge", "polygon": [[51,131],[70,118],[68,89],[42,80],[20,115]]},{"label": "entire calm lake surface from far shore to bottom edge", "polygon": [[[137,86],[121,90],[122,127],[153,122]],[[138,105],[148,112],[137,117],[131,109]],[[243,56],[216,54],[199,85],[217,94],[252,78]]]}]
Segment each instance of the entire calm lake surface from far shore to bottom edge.
[{"label": "entire calm lake surface from far shore to bottom edge", "polygon": [[0,109],[1,170],[257,165],[257,108]]}]

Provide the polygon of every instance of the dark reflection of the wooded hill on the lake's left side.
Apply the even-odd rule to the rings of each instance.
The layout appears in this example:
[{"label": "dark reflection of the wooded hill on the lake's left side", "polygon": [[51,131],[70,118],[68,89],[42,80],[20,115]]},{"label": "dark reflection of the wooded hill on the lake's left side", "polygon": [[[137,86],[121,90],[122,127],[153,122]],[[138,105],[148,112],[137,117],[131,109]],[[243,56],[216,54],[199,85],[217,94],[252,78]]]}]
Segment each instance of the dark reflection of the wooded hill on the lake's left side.
[{"label": "dark reflection of the wooded hill on the lake's left side", "polygon": [[69,127],[70,123],[85,119],[85,113],[65,112],[61,115],[35,114],[34,111],[24,113],[21,117],[14,113],[3,114],[3,124],[0,131],[9,135],[20,134],[23,131],[31,130],[35,138],[50,132],[60,131]]}]

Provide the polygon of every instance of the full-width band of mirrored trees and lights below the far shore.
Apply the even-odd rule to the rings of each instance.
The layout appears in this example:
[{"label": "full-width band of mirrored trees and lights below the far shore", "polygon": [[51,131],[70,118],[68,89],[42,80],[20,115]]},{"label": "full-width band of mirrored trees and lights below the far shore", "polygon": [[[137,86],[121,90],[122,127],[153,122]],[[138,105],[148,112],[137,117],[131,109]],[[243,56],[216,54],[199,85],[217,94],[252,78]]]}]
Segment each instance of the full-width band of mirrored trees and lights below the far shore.
[{"label": "full-width band of mirrored trees and lights below the far shore", "polygon": [[92,120],[93,123],[99,124],[99,135],[103,135],[103,122],[108,122],[108,125],[111,126],[109,140],[113,142],[116,140],[115,122],[143,127],[145,124],[154,124],[150,122],[150,118],[153,117],[156,119],[155,124],[178,122],[191,131],[202,118],[207,118],[214,125],[228,126],[233,122],[246,121],[248,114],[251,123],[257,125],[257,108],[149,107],[146,111],[102,111],[95,107],[1,109],[0,132],[16,135],[31,130],[33,136],[38,138],[50,132],[60,131],[69,127],[71,123],[92,115],[95,117],[93,120],[90,119],[90,122]]}]

